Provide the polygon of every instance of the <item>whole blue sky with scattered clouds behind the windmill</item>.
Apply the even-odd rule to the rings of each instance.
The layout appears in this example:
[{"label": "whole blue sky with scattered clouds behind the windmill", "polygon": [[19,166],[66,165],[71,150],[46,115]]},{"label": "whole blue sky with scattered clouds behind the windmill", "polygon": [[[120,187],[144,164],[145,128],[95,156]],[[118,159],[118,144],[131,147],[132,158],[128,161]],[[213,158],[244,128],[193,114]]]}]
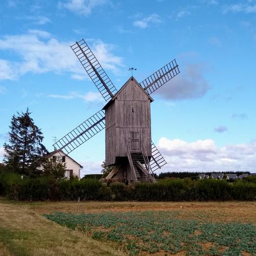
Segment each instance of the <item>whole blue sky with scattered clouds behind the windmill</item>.
[{"label": "whole blue sky with scattered clouds behind the windmill", "polygon": [[[162,170],[249,170],[256,162],[256,1],[3,0],[0,160],[13,114],[25,111],[53,150],[104,100],[70,48],[86,39],[119,89],[176,58],[181,73],[151,96]],[[104,132],[71,154],[100,172]]]}]

